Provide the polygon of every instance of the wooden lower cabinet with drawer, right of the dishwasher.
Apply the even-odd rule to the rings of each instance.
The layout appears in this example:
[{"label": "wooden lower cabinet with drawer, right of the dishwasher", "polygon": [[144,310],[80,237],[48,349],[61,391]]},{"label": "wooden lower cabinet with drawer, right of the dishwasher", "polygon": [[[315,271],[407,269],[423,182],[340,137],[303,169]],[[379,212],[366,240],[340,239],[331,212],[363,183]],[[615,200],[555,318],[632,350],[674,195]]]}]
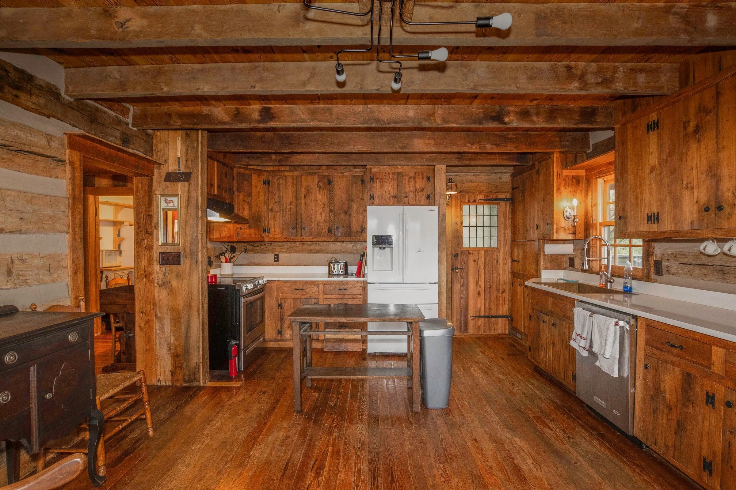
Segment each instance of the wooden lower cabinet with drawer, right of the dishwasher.
[{"label": "wooden lower cabinet with drawer, right of the dishwasher", "polygon": [[634,436],[707,489],[736,478],[736,344],[639,319]]}]

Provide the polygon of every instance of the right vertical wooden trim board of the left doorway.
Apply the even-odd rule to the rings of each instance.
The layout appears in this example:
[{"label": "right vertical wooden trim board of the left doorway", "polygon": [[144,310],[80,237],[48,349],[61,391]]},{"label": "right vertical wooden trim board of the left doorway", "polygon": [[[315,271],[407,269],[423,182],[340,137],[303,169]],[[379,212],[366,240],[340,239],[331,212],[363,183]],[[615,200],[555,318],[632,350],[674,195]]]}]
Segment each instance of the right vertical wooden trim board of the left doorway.
[{"label": "right vertical wooden trim board of the left doorway", "polygon": [[153,181],[147,177],[133,178],[133,239],[135,262],[135,369],[148,374],[149,383],[156,380],[158,372],[155,304],[166,303],[158,299],[154,283],[154,240],[158,240],[158,228],[154,227],[154,213],[158,212],[154,196]]}]

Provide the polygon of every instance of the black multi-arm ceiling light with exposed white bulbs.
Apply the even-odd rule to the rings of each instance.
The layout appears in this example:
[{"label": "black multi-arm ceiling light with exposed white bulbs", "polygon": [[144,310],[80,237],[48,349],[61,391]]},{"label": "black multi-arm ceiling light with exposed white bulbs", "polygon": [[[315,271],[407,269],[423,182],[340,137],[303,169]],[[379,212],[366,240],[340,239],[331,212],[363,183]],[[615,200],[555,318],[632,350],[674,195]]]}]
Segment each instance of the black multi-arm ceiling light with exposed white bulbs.
[{"label": "black multi-arm ceiling light with exposed white bulbs", "polygon": [[[391,2],[391,21],[389,22],[389,59],[381,59],[381,20],[383,18],[383,4]],[[447,60],[447,48],[438,48],[420,51],[417,54],[394,54],[394,13],[398,4],[399,18],[403,24],[408,26],[447,26],[447,25],[459,25],[459,24],[475,24],[476,29],[488,29],[495,27],[496,29],[509,29],[512,24],[512,16],[510,13],[502,13],[495,15],[494,17],[478,17],[475,21],[444,21],[444,22],[412,22],[407,21],[404,18],[404,0],[378,0],[378,38],[375,43],[373,42],[373,13],[375,1],[371,0],[370,8],[366,12],[347,12],[345,10],[331,9],[328,7],[321,7],[309,3],[308,0],[302,0],[302,3],[308,9],[322,10],[324,12],[339,13],[344,15],[353,15],[355,17],[365,17],[370,15],[370,46],[363,49],[340,49],[335,53],[337,64],[335,65],[335,79],[338,82],[344,82],[347,79],[345,73],[345,67],[340,63],[340,54],[342,53],[356,53],[356,52],[370,52],[375,47],[375,59],[378,63],[393,63],[398,65],[397,71],[394,73],[394,79],[391,82],[392,90],[401,89],[401,62],[402,58],[416,58],[417,60],[434,60],[434,61],[445,61]]]}]

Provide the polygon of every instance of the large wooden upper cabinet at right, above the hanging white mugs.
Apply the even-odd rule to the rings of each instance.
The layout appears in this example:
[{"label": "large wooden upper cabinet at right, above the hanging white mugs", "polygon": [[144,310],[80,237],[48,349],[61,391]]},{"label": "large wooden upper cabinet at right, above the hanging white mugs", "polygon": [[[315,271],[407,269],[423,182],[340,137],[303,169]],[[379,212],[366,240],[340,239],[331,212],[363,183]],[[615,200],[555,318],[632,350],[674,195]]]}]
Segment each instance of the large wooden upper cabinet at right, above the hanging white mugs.
[{"label": "large wooden upper cabinet at right, above the hanging white mugs", "polygon": [[616,127],[616,235],[736,232],[736,77]]}]

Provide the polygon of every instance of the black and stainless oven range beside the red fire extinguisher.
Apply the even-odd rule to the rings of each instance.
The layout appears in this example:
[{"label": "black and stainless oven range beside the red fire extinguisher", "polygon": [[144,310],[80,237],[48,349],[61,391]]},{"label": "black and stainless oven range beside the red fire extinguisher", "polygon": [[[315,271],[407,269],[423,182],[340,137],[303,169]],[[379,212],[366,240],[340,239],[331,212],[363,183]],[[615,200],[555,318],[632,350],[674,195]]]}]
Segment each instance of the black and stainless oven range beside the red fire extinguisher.
[{"label": "black and stainless oven range beside the red fire extinguisher", "polygon": [[266,333],[263,277],[220,277],[208,285],[210,369],[227,371],[233,345],[238,371],[261,354]]}]

